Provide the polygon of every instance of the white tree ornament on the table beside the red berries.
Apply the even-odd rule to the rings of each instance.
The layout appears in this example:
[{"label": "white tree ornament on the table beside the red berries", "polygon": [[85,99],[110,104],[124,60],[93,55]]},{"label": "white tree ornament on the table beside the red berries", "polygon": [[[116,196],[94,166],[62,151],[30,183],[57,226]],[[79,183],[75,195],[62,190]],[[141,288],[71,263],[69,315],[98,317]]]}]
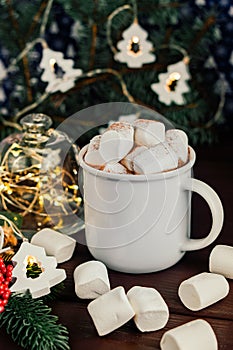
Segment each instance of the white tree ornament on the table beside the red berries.
[{"label": "white tree ornament on the table beside the red berries", "polygon": [[[24,292],[29,289],[32,298],[39,298],[50,293],[50,288],[66,278],[65,270],[57,269],[57,261],[53,256],[46,256],[42,247],[23,242],[18,252],[12,258],[16,262],[13,277],[16,282],[11,286],[11,292]],[[36,263],[41,273],[36,278],[27,277],[27,266]]]}]

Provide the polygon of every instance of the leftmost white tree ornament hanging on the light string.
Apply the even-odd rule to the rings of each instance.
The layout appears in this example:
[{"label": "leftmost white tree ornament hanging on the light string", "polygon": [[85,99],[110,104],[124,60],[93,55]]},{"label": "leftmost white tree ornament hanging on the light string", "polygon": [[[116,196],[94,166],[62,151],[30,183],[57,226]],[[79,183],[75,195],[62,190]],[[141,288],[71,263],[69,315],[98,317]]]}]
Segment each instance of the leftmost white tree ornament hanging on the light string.
[{"label": "leftmost white tree ornament hanging on the light string", "polygon": [[71,89],[77,77],[82,74],[81,69],[73,69],[74,61],[64,59],[62,52],[43,49],[40,67],[44,69],[41,80],[48,82],[47,92],[66,92]]}]

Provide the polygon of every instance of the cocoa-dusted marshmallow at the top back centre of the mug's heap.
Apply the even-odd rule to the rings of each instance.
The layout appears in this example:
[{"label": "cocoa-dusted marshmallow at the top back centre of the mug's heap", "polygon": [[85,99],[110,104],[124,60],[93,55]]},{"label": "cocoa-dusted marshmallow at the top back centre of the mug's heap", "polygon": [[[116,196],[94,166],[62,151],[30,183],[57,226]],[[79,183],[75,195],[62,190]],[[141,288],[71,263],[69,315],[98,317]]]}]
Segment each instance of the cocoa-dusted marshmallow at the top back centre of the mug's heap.
[{"label": "cocoa-dusted marshmallow at the top back centre of the mug's heap", "polygon": [[140,146],[153,147],[165,140],[165,126],[155,120],[137,119],[134,122],[135,143]]}]

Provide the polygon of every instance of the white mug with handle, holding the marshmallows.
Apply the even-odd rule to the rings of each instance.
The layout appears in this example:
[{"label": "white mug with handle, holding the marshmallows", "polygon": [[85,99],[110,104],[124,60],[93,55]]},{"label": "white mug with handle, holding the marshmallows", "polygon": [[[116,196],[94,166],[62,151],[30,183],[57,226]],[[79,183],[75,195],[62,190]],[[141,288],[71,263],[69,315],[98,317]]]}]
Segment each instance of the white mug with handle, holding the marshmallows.
[{"label": "white mug with handle, holding the marshmallows", "polygon": [[[186,251],[211,244],[223,225],[223,208],[216,192],[192,178],[195,152],[189,162],[172,171],[113,174],[88,166],[83,169],[85,234],[94,258],[109,268],[130,273],[166,269]],[[202,239],[190,238],[191,192],[208,203],[213,224]]]}]

